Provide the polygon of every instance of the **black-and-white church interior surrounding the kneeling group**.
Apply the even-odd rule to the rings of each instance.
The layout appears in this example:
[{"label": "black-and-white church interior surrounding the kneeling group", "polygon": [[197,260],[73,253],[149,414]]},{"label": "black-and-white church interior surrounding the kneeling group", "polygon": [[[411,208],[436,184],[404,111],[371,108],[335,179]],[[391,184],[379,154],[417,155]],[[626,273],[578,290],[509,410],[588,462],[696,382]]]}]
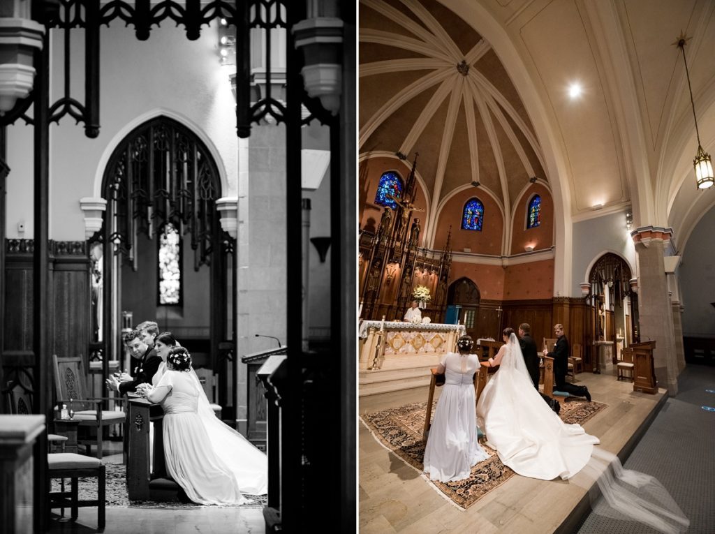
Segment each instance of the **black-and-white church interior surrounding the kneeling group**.
[{"label": "black-and-white church interior surrounding the kneeling group", "polygon": [[[1,532],[355,528],[355,15],[1,2]],[[105,387],[146,321],[267,493],[182,498],[161,407]]]}]

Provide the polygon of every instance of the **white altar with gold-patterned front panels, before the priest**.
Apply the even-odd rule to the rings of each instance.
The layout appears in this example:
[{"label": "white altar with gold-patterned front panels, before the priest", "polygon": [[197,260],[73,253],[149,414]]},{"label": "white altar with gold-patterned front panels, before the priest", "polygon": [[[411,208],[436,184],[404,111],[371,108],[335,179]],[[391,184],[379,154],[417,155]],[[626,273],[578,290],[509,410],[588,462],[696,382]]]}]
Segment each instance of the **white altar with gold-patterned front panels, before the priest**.
[{"label": "white altar with gold-patterned front panels, before the priest", "polygon": [[430,368],[456,350],[464,325],[363,321],[360,323],[359,395],[426,386]]}]

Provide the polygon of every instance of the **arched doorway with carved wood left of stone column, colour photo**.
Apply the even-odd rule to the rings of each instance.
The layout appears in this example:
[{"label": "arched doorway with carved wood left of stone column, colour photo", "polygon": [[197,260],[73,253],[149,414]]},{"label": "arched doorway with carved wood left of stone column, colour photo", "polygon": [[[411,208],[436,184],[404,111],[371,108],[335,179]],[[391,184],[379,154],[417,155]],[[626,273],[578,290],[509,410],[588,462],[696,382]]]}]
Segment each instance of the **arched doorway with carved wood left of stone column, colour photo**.
[{"label": "arched doorway with carved wood left of stone column, colour photo", "polygon": [[638,295],[631,289],[631,276],[626,260],[612,252],[598,258],[588,273],[591,287],[586,296],[584,365],[594,372],[600,368],[599,352],[610,353],[615,364],[623,347],[640,340]]}]

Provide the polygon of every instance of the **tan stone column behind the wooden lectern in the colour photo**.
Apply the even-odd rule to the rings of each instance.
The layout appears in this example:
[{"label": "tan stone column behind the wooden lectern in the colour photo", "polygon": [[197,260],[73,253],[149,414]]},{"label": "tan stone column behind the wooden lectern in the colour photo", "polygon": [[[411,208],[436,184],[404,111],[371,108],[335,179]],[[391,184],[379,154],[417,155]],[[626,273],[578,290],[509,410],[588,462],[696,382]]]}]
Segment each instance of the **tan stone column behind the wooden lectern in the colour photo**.
[{"label": "tan stone column behind the wooden lectern in the colour photo", "polygon": [[631,232],[638,254],[638,317],[641,342],[653,340],[654,366],[659,387],[678,393],[675,333],[664,262],[664,244],[671,229],[645,227]]}]

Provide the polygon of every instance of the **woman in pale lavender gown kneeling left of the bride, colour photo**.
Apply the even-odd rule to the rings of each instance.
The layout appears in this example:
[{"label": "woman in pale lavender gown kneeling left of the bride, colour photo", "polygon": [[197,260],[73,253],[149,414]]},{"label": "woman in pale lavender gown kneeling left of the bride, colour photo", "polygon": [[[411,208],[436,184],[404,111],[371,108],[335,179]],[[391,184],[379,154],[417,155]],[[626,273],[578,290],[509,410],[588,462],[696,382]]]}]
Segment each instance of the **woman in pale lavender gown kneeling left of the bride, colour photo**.
[{"label": "woman in pale lavender gown kneeling left of the bride, colour photo", "polygon": [[425,473],[441,482],[468,478],[473,465],[489,458],[477,441],[472,377],[479,361],[470,354],[472,338],[460,337],[457,347],[459,353],[448,352],[437,367],[445,373],[445,385],[425,447]]}]

